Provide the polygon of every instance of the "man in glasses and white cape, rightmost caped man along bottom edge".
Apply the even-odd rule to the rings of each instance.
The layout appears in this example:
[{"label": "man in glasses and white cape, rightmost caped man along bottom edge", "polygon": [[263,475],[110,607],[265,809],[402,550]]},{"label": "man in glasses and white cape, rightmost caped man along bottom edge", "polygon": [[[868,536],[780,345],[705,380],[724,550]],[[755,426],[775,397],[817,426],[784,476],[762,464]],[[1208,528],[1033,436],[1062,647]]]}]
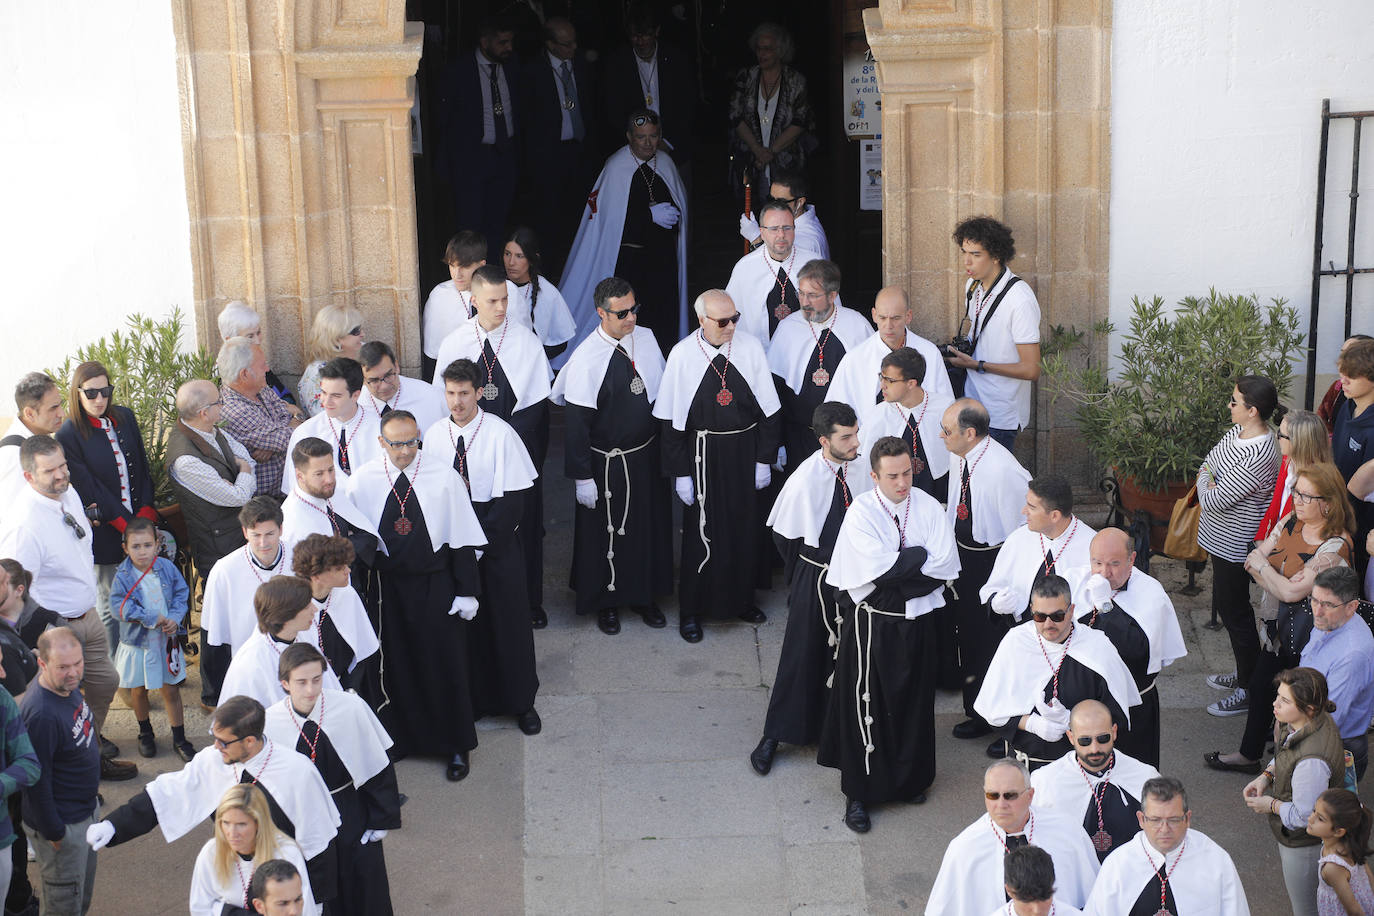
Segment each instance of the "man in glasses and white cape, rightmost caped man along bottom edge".
[{"label": "man in glasses and white cape, rightmost caped man along bottom edge", "polygon": [[1249,916],[1235,862],[1210,836],[1191,829],[1183,783],[1172,776],[1147,780],[1136,820],[1135,839],[1102,862],[1085,916]]}]

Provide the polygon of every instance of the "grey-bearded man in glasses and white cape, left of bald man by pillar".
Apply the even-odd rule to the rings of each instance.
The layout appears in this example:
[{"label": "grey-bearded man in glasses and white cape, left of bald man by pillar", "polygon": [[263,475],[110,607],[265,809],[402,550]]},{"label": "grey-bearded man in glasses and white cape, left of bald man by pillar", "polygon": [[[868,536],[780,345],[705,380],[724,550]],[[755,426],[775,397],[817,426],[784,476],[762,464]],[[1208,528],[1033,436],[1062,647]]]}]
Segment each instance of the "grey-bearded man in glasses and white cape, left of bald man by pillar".
[{"label": "grey-bearded man in glasses and white cape, left of bald man by pillar", "polygon": [[768,345],[768,367],[782,398],[779,464],[787,474],[816,450],[812,415],[829,400],[840,360],[872,334],[861,314],[840,305],[840,268],[834,261],[816,258],[797,271],[797,294],[801,310],[778,323]]}]

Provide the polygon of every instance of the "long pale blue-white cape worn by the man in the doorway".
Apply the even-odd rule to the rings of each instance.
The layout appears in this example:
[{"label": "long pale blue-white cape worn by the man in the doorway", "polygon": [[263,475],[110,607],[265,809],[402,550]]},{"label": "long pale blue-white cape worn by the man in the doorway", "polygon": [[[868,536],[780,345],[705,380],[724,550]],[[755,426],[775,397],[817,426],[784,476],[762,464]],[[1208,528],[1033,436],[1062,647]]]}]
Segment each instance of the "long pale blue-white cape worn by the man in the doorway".
[{"label": "long pale blue-white cape worn by the man in the doorway", "polygon": [[[687,191],[677,176],[677,166],[672,157],[660,150],[653,159],[654,172],[658,179],[668,185],[673,195],[673,202],[682,211],[677,222],[677,336],[687,336]],[[609,276],[616,275],[616,264],[620,261],[620,239],[625,231],[625,207],[629,203],[629,183],[639,169],[639,159],[629,151],[628,146],[610,154],[606,165],[596,176],[596,184],[587,198],[583,209],[583,221],[573,239],[573,247],[567,253],[567,262],[563,268],[563,277],[558,287],[563,291],[577,321],[576,342],[581,342],[592,332],[600,319],[596,317],[596,306],[592,302],[592,293],[596,284]],[[666,312],[666,304],[654,304]],[[662,319],[669,320],[668,314]],[[566,353],[563,354],[566,356]],[[555,360],[559,363],[561,360]]]}]

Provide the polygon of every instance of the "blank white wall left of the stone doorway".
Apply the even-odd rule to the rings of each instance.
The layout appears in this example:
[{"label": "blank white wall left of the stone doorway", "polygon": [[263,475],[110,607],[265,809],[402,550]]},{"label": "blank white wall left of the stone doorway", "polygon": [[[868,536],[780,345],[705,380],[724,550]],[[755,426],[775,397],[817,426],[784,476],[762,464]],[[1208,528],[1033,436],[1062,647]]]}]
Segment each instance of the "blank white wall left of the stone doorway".
[{"label": "blank white wall left of the stone doorway", "polygon": [[[0,3],[0,416],[133,312],[192,305],[168,0]],[[66,379],[59,379],[66,385]]]}]

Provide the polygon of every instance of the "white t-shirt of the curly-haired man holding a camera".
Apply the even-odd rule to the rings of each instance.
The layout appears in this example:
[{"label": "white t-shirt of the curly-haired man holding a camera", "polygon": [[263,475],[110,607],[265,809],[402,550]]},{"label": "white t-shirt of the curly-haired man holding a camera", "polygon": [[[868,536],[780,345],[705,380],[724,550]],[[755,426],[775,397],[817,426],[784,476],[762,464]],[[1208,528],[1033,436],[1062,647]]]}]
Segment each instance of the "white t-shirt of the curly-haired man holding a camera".
[{"label": "white t-shirt of the curly-haired man holding a camera", "polygon": [[[1040,342],[1040,304],[1025,280],[1007,290],[1002,305],[992,314],[992,320],[988,320],[993,301],[1014,276],[1010,269],[1004,271],[998,284],[981,298],[981,316],[977,309],[978,295],[969,298],[969,334],[977,335],[974,360],[1017,363],[1021,360],[1017,353],[1018,343]],[[965,284],[965,293],[970,286],[973,280]],[[988,408],[988,419],[996,430],[1020,430],[1030,422],[1030,382],[969,369],[966,394]]]}]

